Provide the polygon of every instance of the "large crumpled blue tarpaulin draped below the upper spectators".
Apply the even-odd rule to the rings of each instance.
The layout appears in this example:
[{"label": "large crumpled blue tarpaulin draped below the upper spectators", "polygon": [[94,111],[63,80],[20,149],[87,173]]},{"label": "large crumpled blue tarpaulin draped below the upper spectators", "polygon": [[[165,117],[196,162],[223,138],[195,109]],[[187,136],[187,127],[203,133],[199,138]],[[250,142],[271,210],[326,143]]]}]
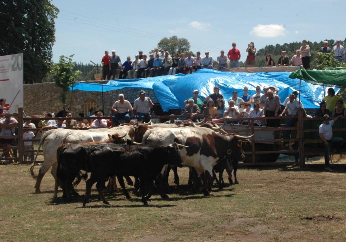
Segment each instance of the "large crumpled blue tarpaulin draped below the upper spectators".
[{"label": "large crumpled blue tarpaulin draped below the upper spectators", "polygon": [[[243,88],[247,86],[249,95],[256,93],[256,86],[275,86],[279,89],[278,95],[282,104],[292,91],[299,91],[299,79],[291,79],[291,72],[220,72],[211,69],[201,69],[190,75],[168,75],[141,79],[125,79],[109,81],[103,85],[103,91],[119,90],[122,88],[153,89],[164,111],[175,108],[184,108],[184,100],[192,97],[192,91],[200,91],[200,98],[204,100],[213,93],[213,87],[218,85],[220,92],[227,101],[233,91],[238,96],[243,95]],[[71,89],[72,90],[72,89]],[[73,90],[101,91],[101,84],[74,83]],[[300,99],[304,108],[318,108],[324,97],[323,87],[301,81]],[[335,88],[335,92],[339,89]],[[263,93],[263,91],[262,91]]]}]

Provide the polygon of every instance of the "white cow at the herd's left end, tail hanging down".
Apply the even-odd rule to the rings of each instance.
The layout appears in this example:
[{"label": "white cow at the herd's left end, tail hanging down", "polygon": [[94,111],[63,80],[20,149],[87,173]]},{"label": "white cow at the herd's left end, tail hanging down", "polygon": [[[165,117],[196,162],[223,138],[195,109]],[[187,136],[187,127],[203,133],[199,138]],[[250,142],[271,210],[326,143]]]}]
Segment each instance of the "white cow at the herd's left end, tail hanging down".
[{"label": "white cow at the herd's left end, tail hanging down", "polygon": [[96,131],[97,129],[94,129],[94,130],[92,129],[90,130],[55,129],[55,130],[46,131],[45,134],[42,136],[40,145],[39,145],[39,148],[42,145],[44,162],[42,166],[40,167],[38,175],[34,174],[34,166],[35,166],[37,154],[33,162],[33,165],[30,167],[31,176],[33,176],[34,179],[37,179],[35,184],[35,192],[36,193],[40,192],[40,184],[41,184],[42,178],[46,174],[46,172],[49,170],[49,168],[52,167],[51,174],[53,175],[55,179],[54,197],[57,197],[58,181],[56,179],[56,168],[57,168],[56,151],[57,151],[57,148],[62,143],[106,142],[110,139],[110,137],[112,137],[112,135],[116,135],[116,134],[118,139],[126,138],[126,135],[125,136],[123,135],[126,131],[129,131],[130,129],[131,127],[129,126],[126,127],[124,125],[122,126],[122,128],[120,127],[110,128],[103,132],[98,132]]}]

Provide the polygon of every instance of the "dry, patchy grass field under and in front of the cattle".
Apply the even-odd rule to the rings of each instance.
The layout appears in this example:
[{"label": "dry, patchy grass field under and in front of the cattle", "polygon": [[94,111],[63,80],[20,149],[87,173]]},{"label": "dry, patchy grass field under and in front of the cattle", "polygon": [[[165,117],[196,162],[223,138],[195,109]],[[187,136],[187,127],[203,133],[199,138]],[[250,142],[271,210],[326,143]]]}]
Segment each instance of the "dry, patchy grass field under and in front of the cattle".
[{"label": "dry, patchy grass field under and in front of the cattle", "polygon": [[[111,205],[104,205],[93,189],[85,208],[82,198],[53,200],[50,173],[42,193],[34,194],[28,169],[0,166],[0,241],[346,241],[345,166],[333,173],[322,167],[239,169],[240,184],[215,186],[213,196],[175,186],[170,200],[154,195],[149,206],[132,193],[134,201],[127,201],[121,189],[106,194]],[[188,169],[178,173],[186,184]]]}]

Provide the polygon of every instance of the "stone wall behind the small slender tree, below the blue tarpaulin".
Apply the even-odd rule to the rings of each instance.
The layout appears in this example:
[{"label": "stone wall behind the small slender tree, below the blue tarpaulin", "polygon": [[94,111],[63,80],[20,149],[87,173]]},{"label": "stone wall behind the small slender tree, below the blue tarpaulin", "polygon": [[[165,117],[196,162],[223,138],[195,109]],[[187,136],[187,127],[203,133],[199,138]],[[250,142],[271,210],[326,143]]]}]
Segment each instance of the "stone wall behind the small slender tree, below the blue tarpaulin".
[{"label": "stone wall behind the small slender tree, below the blue tarpaulin", "polygon": [[[60,91],[58,87],[54,87],[55,83],[37,83],[24,85],[24,109],[26,115],[41,114],[43,112],[55,112],[63,109],[63,104],[60,101]],[[132,104],[139,96],[139,89],[120,89],[103,93],[103,105],[105,115],[110,112],[111,106],[118,100],[118,94],[123,93],[125,99]],[[145,90],[148,97],[151,97],[154,103],[157,103],[157,98],[153,90]],[[71,112],[73,116],[77,116],[83,110],[84,102],[92,98],[97,103],[97,109],[102,109],[102,93],[101,92],[85,92],[73,91]],[[66,104],[70,106],[71,91],[67,94]],[[85,113],[86,115],[87,113]]]}]

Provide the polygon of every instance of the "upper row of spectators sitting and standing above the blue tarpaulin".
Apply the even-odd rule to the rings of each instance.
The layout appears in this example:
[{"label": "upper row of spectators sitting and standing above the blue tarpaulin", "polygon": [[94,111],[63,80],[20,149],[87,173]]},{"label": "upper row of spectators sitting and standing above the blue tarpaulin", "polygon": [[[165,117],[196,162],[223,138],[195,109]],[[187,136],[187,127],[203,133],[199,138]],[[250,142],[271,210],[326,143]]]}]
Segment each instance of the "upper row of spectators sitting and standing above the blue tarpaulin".
[{"label": "upper row of spectators sitting and standing above the blue tarpaulin", "polygon": [[[220,51],[220,55],[216,58],[216,69],[219,71],[227,71],[229,68],[239,67],[240,50],[236,48],[237,44],[232,43],[232,48],[228,51],[227,55],[224,50]],[[341,39],[336,40],[333,48],[328,47],[328,41],[324,41],[323,46],[320,48],[321,53],[333,52],[333,56],[339,61],[346,61],[345,48],[341,45]],[[256,63],[256,48],[254,42],[250,42],[246,48],[246,67],[254,67]],[[108,50],[104,52],[102,57],[102,78],[103,80],[115,79],[116,69],[120,69],[119,79],[125,78],[145,78],[161,75],[174,75],[178,73],[188,74],[197,71],[198,69],[208,68],[213,69],[213,62],[215,59],[209,56],[209,51],[204,52],[204,57],[201,53],[197,52],[193,56],[192,52],[187,53],[169,53],[164,49],[154,48],[153,53],[143,54],[142,50],[138,51],[135,55],[134,61],[128,56],[126,61],[121,64],[120,57],[116,55],[116,51],[112,50],[112,55],[109,55]],[[171,56],[171,54],[173,54]],[[302,40],[302,46],[297,49],[296,54],[290,59],[286,55],[286,50],[282,50],[281,56],[275,61],[272,59],[271,54],[265,57],[265,66],[300,66],[305,69],[310,69],[310,46],[307,40]],[[215,101],[214,101],[215,102]],[[1,110],[0,110],[1,112]]]}]

